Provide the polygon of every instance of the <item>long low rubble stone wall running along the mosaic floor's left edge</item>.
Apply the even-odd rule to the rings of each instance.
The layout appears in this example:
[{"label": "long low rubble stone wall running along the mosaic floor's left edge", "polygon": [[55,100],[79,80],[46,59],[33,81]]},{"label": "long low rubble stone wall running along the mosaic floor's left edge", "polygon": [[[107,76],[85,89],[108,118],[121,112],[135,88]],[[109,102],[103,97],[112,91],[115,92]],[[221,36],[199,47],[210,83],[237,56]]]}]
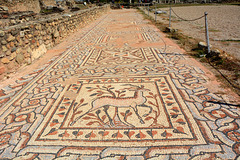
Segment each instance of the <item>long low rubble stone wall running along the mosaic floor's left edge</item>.
[{"label": "long low rubble stone wall running along the mosaic floor's left edge", "polygon": [[94,7],[0,30],[0,79],[22,65],[31,64],[47,49],[108,9],[108,5]]}]

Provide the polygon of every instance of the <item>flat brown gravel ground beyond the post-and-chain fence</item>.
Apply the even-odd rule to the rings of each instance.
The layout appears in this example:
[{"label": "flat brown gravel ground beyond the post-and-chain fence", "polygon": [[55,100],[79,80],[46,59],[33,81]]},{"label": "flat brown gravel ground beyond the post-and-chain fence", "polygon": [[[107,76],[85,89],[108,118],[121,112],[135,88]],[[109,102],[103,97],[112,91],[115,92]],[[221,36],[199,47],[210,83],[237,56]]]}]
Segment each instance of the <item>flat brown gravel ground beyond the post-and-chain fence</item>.
[{"label": "flat brown gravel ground beyond the post-and-chain fence", "polygon": [[[165,10],[169,13],[169,8],[162,8],[161,10]],[[204,12],[208,12],[207,18],[210,31],[210,43],[240,60],[240,6],[188,6],[173,7],[173,10],[178,16],[184,19],[195,19],[203,16]],[[163,19],[158,17],[158,20],[168,24],[168,15],[160,16]],[[190,37],[205,40],[204,18],[197,21],[186,22],[176,18],[176,15],[173,13],[172,16],[173,28],[181,30],[185,35]]]}]

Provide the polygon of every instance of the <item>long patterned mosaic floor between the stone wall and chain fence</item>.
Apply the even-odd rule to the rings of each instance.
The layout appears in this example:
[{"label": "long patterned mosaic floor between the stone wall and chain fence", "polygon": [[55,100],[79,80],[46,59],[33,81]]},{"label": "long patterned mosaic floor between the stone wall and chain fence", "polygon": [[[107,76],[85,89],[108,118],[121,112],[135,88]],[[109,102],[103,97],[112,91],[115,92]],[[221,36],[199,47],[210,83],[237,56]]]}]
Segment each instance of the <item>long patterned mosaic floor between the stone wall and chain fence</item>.
[{"label": "long patterned mosaic floor between the stone wall and chain fence", "polygon": [[0,158],[239,158],[239,97],[136,10],[71,42],[1,89]]}]

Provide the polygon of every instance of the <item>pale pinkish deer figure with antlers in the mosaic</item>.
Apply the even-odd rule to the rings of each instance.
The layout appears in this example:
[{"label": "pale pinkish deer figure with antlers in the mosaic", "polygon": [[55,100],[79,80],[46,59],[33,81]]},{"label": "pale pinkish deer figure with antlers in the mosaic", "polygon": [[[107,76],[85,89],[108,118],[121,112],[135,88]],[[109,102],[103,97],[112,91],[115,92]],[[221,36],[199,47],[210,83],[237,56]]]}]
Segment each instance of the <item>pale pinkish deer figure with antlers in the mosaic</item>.
[{"label": "pale pinkish deer figure with antlers in the mosaic", "polygon": [[[143,106],[144,103],[147,101],[147,98],[143,95],[144,91],[149,91],[149,89],[145,89],[143,85],[136,86],[131,84],[125,84],[125,86],[130,86],[128,89],[129,91],[134,91],[133,97],[112,97],[112,96],[102,96],[96,98],[92,101],[91,106],[92,108],[89,109],[86,113],[81,115],[80,117],[76,118],[70,125],[76,123],[79,119],[81,119],[84,115],[93,112],[95,110],[103,108],[103,111],[106,113],[110,125],[113,126],[113,120],[111,119],[110,115],[108,114],[107,110],[110,106],[117,107],[117,108],[132,108],[135,114],[137,115],[141,124],[144,124],[142,117],[138,113],[138,106]],[[150,108],[150,107],[149,107]],[[150,108],[150,111],[152,108]]]}]

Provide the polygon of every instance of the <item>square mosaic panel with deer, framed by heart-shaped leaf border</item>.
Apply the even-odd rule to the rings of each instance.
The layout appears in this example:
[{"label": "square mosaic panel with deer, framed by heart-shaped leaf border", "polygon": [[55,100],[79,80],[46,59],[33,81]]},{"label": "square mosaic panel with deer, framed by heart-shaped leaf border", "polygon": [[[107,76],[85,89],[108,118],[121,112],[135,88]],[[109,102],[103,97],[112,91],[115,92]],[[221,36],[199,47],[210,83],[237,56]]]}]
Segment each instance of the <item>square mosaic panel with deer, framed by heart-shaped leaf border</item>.
[{"label": "square mosaic panel with deer, framed by heart-shaped leaf border", "polygon": [[206,143],[169,76],[79,79],[64,88],[28,145],[136,147],[142,143]]}]

